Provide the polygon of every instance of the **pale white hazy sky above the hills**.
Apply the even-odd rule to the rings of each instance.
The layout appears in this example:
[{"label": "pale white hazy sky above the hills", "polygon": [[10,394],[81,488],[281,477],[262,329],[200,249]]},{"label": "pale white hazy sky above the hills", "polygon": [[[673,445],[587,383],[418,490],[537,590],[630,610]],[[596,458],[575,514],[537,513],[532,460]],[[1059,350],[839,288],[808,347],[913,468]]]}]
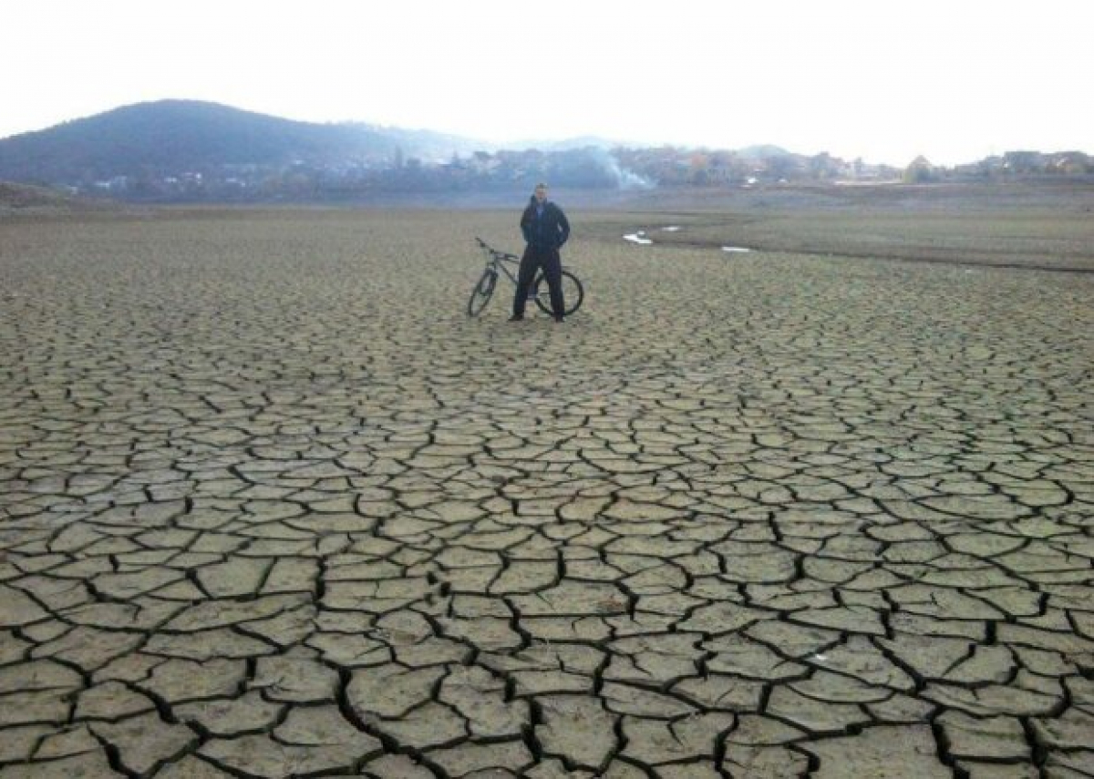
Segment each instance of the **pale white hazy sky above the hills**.
[{"label": "pale white hazy sky above the hills", "polygon": [[0,138],[208,100],[492,141],[1094,153],[1094,2],[3,0]]}]

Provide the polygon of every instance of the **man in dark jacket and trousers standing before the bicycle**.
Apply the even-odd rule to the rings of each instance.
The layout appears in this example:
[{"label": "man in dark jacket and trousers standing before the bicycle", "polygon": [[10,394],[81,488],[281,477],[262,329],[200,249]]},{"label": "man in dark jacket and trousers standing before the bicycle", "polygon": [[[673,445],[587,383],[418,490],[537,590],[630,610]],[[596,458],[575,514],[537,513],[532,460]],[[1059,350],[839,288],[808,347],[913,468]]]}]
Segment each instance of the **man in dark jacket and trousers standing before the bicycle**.
[{"label": "man in dark jacket and trousers standing before the bicycle", "polygon": [[566,302],[562,300],[562,259],[558,251],[570,237],[570,222],[562,209],[547,199],[547,185],[536,184],[528,207],[521,216],[521,232],[524,233],[524,256],[521,257],[521,270],[516,276],[516,297],[513,298],[513,315],[510,322],[524,318],[524,304],[527,301],[532,280],[539,268],[544,270],[547,287],[550,289],[550,307],[555,313],[555,322],[562,321]]}]

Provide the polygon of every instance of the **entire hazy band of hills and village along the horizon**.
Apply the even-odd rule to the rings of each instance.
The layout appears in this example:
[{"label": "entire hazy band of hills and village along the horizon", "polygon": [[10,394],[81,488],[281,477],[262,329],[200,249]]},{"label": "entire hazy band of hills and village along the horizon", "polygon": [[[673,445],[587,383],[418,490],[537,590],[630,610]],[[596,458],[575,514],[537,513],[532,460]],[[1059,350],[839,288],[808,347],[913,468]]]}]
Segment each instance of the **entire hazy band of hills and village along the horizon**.
[{"label": "entire hazy band of hills and village along the horizon", "polygon": [[383,198],[570,189],[765,187],[857,182],[1094,182],[1082,152],[1006,152],[946,170],[900,170],[746,149],[641,147],[583,136],[497,144],[361,123],[315,124],[217,103],[164,100],[124,106],[0,139],[0,182],[142,202],[368,202]]}]

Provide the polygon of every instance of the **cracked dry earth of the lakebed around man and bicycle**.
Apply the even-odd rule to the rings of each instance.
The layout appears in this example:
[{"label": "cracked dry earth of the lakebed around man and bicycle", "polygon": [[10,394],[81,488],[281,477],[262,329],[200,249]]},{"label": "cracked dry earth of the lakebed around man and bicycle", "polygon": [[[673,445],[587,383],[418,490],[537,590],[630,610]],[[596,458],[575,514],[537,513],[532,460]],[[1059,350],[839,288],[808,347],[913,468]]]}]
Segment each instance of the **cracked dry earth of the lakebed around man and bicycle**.
[{"label": "cracked dry earth of the lakebed around man and bicycle", "polygon": [[512,222],[0,224],[0,777],[1094,775],[1091,276]]}]

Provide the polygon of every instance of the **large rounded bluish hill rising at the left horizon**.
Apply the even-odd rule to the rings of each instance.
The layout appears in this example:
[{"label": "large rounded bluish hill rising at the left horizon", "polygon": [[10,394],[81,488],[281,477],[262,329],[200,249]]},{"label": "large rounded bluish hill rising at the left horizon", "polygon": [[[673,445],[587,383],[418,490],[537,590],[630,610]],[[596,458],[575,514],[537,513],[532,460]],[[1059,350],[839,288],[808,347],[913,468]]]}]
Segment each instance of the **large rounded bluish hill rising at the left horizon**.
[{"label": "large rounded bluish hill rising at the left horizon", "polygon": [[90,183],[118,176],[276,167],[386,164],[397,154],[442,158],[474,146],[430,131],[321,125],[216,103],[139,103],[0,140],[0,178]]}]

